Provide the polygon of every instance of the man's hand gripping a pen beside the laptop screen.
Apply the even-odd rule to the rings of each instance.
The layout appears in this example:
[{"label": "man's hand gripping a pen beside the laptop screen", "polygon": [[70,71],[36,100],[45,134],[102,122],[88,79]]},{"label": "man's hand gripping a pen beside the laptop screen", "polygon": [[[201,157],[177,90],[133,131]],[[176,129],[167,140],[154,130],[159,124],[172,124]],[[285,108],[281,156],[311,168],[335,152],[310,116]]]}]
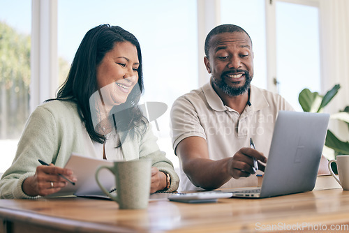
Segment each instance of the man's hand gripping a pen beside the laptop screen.
[{"label": "man's hand gripping a pen beside the laptop screen", "polygon": [[[237,151],[228,161],[228,174],[234,179],[255,174],[253,170],[253,158],[262,161],[262,163],[267,163],[267,158],[263,156],[263,153],[249,147],[244,147]],[[258,161],[258,169],[264,172],[265,165],[260,163],[260,161]]]}]

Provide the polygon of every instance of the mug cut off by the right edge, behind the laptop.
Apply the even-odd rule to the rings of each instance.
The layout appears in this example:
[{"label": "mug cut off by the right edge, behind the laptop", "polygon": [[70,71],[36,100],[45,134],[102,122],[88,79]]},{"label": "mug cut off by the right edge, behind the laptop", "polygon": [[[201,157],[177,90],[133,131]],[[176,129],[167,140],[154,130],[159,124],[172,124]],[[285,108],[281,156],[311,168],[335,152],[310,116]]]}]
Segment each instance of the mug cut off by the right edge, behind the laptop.
[{"label": "mug cut off by the right edge, behind the laptop", "polygon": [[[339,179],[332,171],[331,163],[337,164]],[[328,169],[332,176],[334,176],[334,179],[342,186],[343,190],[349,190],[349,156],[337,156],[336,160],[329,160]]]}]

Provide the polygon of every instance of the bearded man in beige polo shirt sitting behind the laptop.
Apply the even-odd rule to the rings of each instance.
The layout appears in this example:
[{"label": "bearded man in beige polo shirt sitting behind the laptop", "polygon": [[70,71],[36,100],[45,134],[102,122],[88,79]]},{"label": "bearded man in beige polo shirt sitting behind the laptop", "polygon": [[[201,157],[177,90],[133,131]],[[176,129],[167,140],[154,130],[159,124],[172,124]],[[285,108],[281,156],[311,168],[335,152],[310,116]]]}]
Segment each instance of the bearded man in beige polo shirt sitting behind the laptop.
[{"label": "bearded man in beige polo shirt sitting behind the laptop", "polygon": [[276,115],[293,108],[278,94],[250,84],[252,41],[241,27],[212,29],[205,55],[210,82],[179,97],[171,110],[181,190],[256,186],[253,158],[264,171]]}]

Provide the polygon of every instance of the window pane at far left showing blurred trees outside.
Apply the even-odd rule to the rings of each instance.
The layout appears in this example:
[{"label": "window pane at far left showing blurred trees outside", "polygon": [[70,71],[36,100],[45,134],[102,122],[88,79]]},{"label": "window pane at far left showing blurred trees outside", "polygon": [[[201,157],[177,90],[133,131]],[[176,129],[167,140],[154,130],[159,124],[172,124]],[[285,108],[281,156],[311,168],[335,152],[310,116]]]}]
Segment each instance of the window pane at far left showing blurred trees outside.
[{"label": "window pane at far left showing blurred trees outside", "polygon": [[0,1],[0,172],[10,167],[29,117],[31,1]]}]

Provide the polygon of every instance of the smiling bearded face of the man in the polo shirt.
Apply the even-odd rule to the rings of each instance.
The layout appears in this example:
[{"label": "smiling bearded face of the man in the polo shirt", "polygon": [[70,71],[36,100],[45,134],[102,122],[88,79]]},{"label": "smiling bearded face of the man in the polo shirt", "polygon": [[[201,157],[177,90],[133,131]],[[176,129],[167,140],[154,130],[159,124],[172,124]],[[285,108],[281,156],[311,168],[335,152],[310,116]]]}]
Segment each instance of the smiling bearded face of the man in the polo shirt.
[{"label": "smiling bearded face of the man in the polo shirt", "polygon": [[250,87],[253,78],[252,43],[244,32],[220,33],[209,42],[205,65],[215,89],[228,96],[239,96]]}]

